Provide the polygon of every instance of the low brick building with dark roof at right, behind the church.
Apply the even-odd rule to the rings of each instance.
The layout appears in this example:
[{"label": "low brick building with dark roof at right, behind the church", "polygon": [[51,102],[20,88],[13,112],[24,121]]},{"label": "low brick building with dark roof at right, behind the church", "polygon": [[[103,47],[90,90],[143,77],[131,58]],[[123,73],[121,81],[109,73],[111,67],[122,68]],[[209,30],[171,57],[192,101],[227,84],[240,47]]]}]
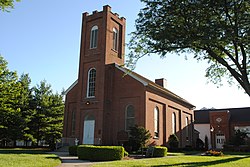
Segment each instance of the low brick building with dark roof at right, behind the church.
[{"label": "low brick building with dark roof at right, behind the church", "polygon": [[194,115],[194,128],[203,142],[208,137],[209,148],[222,149],[238,129],[250,137],[250,107],[195,110]]}]

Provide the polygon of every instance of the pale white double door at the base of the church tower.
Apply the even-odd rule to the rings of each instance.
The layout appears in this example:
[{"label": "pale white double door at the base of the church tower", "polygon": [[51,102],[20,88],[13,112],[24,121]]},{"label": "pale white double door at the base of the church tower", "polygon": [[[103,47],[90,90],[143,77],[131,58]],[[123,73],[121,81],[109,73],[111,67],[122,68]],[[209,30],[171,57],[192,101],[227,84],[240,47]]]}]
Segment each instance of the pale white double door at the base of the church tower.
[{"label": "pale white double door at the base of the church tower", "polygon": [[83,144],[94,144],[95,120],[85,120],[83,128]]}]

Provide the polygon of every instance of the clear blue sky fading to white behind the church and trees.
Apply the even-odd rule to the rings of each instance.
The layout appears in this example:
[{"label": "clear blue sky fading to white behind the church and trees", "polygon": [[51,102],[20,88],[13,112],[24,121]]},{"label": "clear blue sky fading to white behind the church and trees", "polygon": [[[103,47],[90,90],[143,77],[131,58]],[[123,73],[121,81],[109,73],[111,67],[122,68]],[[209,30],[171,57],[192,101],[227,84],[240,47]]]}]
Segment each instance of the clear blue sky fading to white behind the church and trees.
[{"label": "clear blue sky fading to white behind the church and trees", "polygon": [[[57,92],[78,75],[82,13],[101,11],[104,5],[126,18],[126,41],[143,4],[139,0],[22,0],[10,12],[0,12],[0,54],[9,69],[29,73],[32,86],[41,80]],[[128,53],[128,50],[126,50]],[[187,60],[186,60],[187,58]],[[217,88],[204,77],[206,62],[192,55],[157,55],[139,60],[135,72],[154,81],[166,78],[170,91],[202,107],[249,107],[250,98],[236,86]]]}]

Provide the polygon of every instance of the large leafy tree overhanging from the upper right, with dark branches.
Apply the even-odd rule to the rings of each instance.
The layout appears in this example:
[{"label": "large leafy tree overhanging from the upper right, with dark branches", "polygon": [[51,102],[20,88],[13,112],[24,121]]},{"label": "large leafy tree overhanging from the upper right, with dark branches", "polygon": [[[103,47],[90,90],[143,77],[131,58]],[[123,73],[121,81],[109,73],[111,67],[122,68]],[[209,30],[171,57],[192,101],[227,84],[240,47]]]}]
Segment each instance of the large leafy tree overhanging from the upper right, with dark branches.
[{"label": "large leafy tree overhanging from the upper right, with dark branches", "polygon": [[208,61],[209,81],[236,80],[250,96],[249,0],[141,1],[145,7],[128,45],[130,68],[153,53],[162,58],[171,52],[194,53],[196,59]]}]

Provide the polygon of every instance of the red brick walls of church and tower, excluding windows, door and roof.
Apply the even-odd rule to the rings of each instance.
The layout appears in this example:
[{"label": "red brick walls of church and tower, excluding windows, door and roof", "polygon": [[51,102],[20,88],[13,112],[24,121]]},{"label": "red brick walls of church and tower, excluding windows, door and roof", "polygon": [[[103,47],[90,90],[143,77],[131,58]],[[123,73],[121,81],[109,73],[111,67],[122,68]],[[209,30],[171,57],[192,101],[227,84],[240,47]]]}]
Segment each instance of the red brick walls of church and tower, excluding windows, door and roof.
[{"label": "red brick walls of church and tower, excluding windows, door and roof", "polygon": [[[159,108],[159,138],[151,143],[166,145],[172,134],[172,113],[176,113],[177,135],[180,146],[189,145],[183,138],[185,117],[193,117],[193,111],[161,92],[145,87],[141,82],[125,75],[114,64],[124,63],[125,22],[113,14],[109,6],[102,12],[83,14],[78,83],[66,96],[64,137],[83,139],[83,124],[86,116],[95,118],[95,138],[102,144],[118,144],[117,133],[125,130],[125,110],[127,105],[135,108],[135,124],[144,126],[154,135],[154,108]],[[97,48],[90,49],[91,28],[98,26]],[[118,51],[112,49],[113,28],[119,31]],[[109,64],[109,65],[108,65]],[[88,71],[96,69],[96,94],[86,98]],[[76,110],[76,131],[72,136],[72,111]],[[193,120],[193,119],[192,119]],[[192,136],[190,134],[190,136]]]}]

